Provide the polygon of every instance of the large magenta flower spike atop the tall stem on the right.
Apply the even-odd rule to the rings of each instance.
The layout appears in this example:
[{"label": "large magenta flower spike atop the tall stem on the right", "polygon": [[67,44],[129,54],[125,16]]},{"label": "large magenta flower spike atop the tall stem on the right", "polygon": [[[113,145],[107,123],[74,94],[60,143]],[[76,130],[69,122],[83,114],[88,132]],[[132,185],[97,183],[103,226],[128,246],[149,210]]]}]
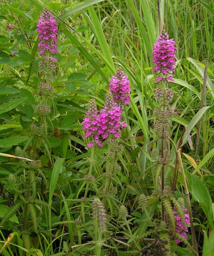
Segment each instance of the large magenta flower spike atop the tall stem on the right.
[{"label": "large magenta flower spike atop the tall stem on the right", "polygon": [[156,64],[153,73],[159,74],[157,81],[162,79],[174,81],[172,76],[166,76],[175,73],[176,47],[174,45],[175,41],[169,39],[167,32],[162,30],[152,52],[152,60]]}]

